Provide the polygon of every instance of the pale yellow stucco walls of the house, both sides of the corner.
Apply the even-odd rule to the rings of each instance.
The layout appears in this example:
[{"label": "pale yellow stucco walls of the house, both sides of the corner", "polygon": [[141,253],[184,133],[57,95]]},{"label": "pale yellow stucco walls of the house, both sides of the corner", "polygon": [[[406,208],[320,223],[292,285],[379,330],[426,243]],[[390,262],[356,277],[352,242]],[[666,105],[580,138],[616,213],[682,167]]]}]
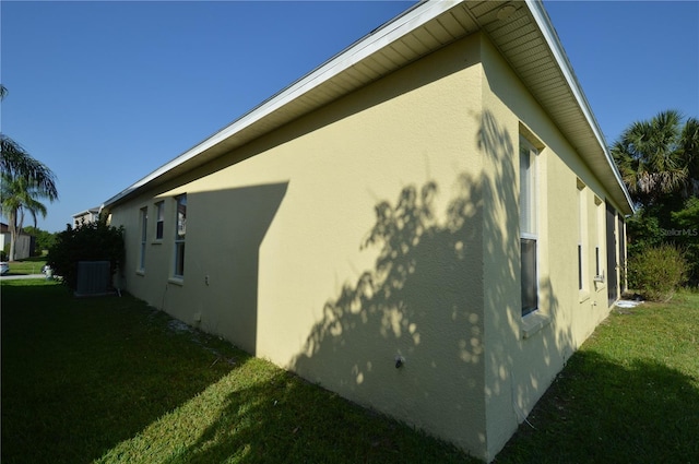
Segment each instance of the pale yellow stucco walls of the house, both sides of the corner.
[{"label": "pale yellow stucco walls of the house, both sides of the corner", "polygon": [[[542,148],[535,316],[546,323],[528,337],[522,133]],[[578,290],[580,181],[590,271],[604,238],[594,201],[604,189],[488,40],[473,35],[111,213],[127,229],[123,285],[135,296],[491,460],[608,313],[591,272],[587,295]],[[149,239],[137,272],[143,207]]]}]

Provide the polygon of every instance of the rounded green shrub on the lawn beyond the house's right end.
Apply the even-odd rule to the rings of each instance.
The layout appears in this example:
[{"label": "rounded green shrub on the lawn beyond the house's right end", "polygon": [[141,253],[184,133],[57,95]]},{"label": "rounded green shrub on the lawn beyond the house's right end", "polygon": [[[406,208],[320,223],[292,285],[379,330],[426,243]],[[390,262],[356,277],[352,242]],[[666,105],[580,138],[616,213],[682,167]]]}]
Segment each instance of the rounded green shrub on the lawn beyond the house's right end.
[{"label": "rounded green shrub on the lawn beyond the house's right end", "polygon": [[629,258],[628,285],[645,299],[668,301],[687,277],[683,251],[668,243],[649,247]]}]

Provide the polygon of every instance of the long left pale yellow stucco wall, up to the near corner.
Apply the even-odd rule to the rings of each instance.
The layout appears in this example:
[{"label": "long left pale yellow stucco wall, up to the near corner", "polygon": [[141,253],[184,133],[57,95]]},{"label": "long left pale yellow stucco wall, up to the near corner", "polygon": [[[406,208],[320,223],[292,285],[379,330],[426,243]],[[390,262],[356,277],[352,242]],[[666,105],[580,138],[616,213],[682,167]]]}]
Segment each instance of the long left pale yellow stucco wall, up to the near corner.
[{"label": "long left pale yellow stucco wall, up to the near corner", "polygon": [[[483,455],[478,60],[479,36],[460,40],[112,209],[128,289]],[[168,277],[183,192],[179,283]],[[152,235],[161,199],[165,239],[149,239],[137,273],[139,209]],[[380,223],[377,206],[393,219]],[[396,228],[367,243],[381,224]]]}]

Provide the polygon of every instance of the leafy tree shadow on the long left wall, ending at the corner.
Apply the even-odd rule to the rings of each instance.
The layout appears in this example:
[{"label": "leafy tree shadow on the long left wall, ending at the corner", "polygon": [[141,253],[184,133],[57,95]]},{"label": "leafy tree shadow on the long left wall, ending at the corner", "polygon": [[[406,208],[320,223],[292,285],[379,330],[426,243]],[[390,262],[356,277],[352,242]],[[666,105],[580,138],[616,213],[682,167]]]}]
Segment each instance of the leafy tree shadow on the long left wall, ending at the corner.
[{"label": "leafy tree shadow on the long left wall, ending at the corner", "polygon": [[292,368],[466,445],[482,442],[483,430],[454,424],[464,415],[484,424],[482,188],[463,172],[453,192],[443,214],[436,181],[376,205],[362,243],[379,249],[374,269],[327,301]]}]

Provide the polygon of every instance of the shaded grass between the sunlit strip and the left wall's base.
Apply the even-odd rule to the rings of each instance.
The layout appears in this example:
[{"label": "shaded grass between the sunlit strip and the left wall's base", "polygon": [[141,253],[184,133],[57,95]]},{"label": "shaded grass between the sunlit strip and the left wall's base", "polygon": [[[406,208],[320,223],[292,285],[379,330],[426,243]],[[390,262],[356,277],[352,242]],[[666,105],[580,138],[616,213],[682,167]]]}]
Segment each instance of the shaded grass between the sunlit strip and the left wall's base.
[{"label": "shaded grass between the sunlit strip and the left wall's base", "polygon": [[227,395],[216,420],[167,463],[470,462],[464,459],[451,445],[277,371]]}]

